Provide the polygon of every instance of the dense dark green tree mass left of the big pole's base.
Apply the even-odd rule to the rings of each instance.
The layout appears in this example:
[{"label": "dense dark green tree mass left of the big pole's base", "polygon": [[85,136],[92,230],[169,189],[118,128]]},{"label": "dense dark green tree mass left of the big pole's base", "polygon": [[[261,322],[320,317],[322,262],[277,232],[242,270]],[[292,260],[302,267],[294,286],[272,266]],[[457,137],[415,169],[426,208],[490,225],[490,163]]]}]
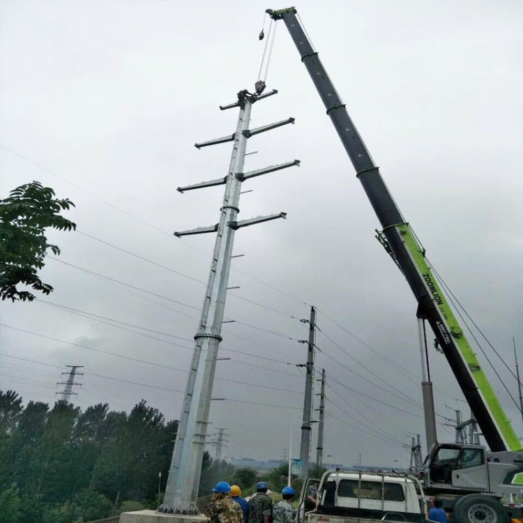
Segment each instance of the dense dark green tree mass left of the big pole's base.
[{"label": "dense dark green tree mass left of the big pole's base", "polygon": [[156,508],[177,428],[144,400],[126,414],[107,403],[22,407],[0,391],[0,523],[88,522],[126,501]]}]

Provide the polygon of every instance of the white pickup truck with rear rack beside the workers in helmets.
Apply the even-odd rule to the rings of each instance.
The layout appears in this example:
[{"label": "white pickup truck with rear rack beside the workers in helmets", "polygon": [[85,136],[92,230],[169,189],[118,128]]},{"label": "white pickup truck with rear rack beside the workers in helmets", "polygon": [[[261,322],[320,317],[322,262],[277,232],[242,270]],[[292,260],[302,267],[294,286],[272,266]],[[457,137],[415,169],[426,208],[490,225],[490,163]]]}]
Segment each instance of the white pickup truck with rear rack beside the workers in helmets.
[{"label": "white pickup truck with rear rack beside the workers in helmets", "polygon": [[315,502],[308,479],[301,493],[298,523],[425,523],[427,503],[415,476],[336,469],[319,481]]}]

